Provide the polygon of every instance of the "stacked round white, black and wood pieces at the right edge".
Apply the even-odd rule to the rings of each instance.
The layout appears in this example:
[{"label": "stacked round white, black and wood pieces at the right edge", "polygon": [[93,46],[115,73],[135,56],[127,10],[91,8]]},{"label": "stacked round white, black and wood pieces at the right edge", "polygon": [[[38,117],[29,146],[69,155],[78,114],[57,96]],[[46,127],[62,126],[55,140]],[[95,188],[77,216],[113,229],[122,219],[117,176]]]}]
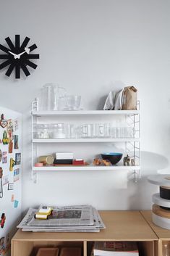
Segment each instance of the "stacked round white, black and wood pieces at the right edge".
[{"label": "stacked round white, black and wood pieces at the right edge", "polygon": [[153,223],[161,228],[170,229],[170,175],[149,176],[148,181],[159,186],[159,192],[153,194]]}]

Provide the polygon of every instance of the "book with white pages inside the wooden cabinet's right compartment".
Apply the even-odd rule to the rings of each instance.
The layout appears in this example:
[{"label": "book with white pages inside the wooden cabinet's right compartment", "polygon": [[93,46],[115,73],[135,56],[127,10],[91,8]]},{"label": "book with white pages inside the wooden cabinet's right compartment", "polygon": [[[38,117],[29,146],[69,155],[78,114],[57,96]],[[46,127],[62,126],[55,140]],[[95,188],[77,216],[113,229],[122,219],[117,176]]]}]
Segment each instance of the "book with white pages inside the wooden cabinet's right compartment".
[{"label": "book with white pages inside the wooden cabinet's right compartment", "polygon": [[135,241],[95,241],[94,256],[139,256]]}]

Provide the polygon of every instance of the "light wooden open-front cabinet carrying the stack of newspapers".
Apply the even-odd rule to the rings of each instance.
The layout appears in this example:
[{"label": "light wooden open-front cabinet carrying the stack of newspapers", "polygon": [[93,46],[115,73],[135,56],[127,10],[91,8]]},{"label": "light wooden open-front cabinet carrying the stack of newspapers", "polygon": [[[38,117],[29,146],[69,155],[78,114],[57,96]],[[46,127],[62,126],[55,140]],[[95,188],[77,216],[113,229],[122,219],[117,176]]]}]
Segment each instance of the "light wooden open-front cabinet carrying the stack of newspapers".
[{"label": "light wooden open-front cabinet carrying the stack of newspapers", "polygon": [[100,211],[106,229],[99,233],[33,233],[17,231],[12,256],[35,256],[38,247],[81,247],[90,256],[93,241],[137,241],[142,256],[158,256],[158,236],[139,211]]}]

